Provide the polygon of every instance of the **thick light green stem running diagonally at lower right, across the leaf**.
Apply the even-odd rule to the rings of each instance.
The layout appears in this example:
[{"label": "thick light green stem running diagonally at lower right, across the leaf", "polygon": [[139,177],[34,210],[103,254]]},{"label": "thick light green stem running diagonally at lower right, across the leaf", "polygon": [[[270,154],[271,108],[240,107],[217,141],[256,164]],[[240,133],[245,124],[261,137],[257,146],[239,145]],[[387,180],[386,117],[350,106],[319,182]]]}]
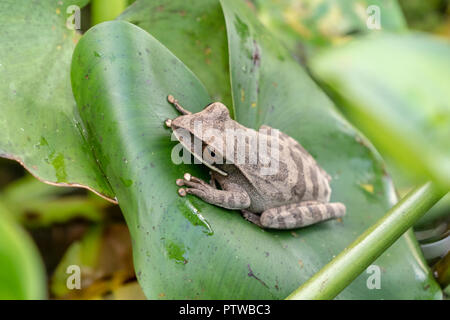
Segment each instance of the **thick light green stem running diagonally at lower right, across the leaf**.
[{"label": "thick light green stem running diagonally at lower right, across the leaf", "polygon": [[444,195],[430,182],[415,188],[287,299],[333,299]]}]

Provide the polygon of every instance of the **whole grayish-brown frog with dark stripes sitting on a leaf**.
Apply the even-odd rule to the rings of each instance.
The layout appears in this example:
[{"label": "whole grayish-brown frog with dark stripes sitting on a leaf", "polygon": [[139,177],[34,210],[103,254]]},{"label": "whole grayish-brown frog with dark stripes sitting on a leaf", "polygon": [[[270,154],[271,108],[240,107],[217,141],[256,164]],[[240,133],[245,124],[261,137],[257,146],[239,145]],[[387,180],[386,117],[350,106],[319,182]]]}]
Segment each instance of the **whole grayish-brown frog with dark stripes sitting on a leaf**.
[{"label": "whole grayish-brown frog with dark stripes sitting on a leaf", "polygon": [[[231,119],[220,102],[191,113],[173,96],[169,95],[168,101],[182,115],[166,120],[166,126],[185,149],[211,169],[210,183],[189,173],[177,179],[176,184],[185,187],[178,190],[180,196],[192,194],[223,208],[241,210],[248,221],[262,228],[295,229],[345,215],[344,204],[329,202],[331,177],[293,138],[268,126],[259,131],[246,128]],[[177,134],[180,130],[188,137]],[[206,134],[208,130],[214,134]],[[240,132],[241,136],[229,132]],[[243,150],[251,149],[252,139],[275,148],[256,163],[251,161],[251,153],[236,161]],[[239,143],[243,149],[238,148]],[[270,172],[274,163],[276,170]]]}]

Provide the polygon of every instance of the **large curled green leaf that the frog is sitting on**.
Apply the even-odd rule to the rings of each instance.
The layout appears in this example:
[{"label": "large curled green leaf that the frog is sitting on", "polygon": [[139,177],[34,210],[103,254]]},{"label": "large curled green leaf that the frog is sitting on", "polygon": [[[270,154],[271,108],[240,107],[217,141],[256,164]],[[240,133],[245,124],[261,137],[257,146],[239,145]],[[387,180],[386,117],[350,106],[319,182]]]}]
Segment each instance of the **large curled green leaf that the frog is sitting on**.
[{"label": "large curled green leaf that the frog is sitting on", "polygon": [[[136,273],[149,298],[284,298],[392,205],[391,185],[364,140],[278,43],[260,36],[265,30],[250,12],[234,1],[223,6],[231,65],[238,57],[248,72],[231,69],[237,119],[252,127],[268,123],[301,141],[333,175],[333,200],[346,203],[348,216],[295,232],[265,231],[238,212],[179,198],[175,180],[185,172],[205,177],[206,170],[172,162],[176,143],[163,122],[177,113],[167,95],[194,112],[211,99],[145,31],[126,22],[100,24],[75,50],[72,85],[86,138],[125,214]],[[261,78],[252,107],[255,78],[246,68],[256,45]],[[239,102],[239,84],[249,100]],[[256,118],[252,110],[260,112]],[[340,297],[439,296],[409,233],[376,263],[385,270],[382,290],[368,290],[362,275]]]}]

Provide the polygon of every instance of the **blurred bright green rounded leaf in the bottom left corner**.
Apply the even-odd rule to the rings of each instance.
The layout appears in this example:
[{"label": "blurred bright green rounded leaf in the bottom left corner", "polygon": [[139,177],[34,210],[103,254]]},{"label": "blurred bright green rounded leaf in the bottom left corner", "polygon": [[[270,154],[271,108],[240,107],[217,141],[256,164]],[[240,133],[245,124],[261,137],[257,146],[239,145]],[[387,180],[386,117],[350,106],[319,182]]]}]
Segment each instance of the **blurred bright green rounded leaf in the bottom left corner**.
[{"label": "blurred bright green rounded leaf in the bottom left corner", "polygon": [[0,207],[0,300],[44,299],[45,270],[29,235]]}]

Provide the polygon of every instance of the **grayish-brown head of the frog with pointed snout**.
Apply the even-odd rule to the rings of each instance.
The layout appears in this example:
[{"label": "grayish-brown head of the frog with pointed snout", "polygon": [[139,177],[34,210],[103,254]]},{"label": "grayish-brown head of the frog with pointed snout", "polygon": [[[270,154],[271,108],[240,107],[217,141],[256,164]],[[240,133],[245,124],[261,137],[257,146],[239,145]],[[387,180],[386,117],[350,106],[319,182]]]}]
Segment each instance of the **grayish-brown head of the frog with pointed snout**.
[{"label": "grayish-brown head of the frog with pointed snout", "polygon": [[228,108],[220,102],[214,102],[200,112],[190,113],[179,106],[176,100],[172,100],[169,99],[169,102],[183,113],[166,121],[176,139],[208,168],[226,176],[227,173],[217,165],[226,161],[223,154],[225,129],[233,122]]}]

